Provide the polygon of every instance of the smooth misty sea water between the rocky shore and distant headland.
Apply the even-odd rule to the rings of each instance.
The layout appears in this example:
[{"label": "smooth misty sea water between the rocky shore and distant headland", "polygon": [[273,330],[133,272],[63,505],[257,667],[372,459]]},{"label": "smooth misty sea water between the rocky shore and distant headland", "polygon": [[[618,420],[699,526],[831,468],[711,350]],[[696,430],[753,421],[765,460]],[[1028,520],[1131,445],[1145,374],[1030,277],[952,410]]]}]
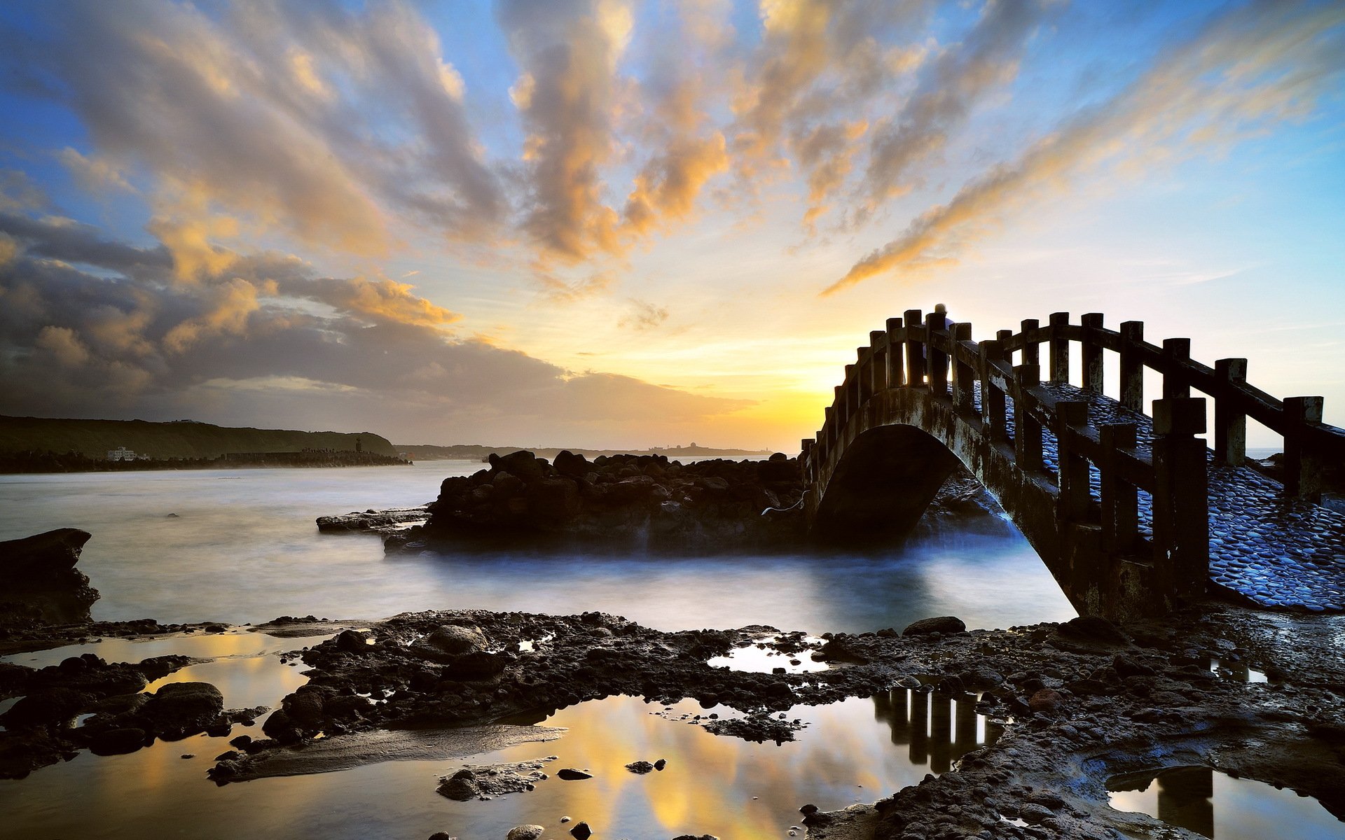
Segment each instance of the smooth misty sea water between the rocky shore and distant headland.
[{"label": "smooth misty sea water between the rocky shore and distant headland", "polygon": [[[1032,547],[994,520],[880,552],[581,555],[461,552],[385,558],[369,535],[319,534],[317,516],[424,504],[471,461],[347,469],[0,476],[0,539],[77,527],[102,593],[95,618],[260,622],[381,618],[483,607],[604,610],[660,629],[902,628],[927,616],[968,626],[1060,621],[1075,612]],[[175,513],[176,516],[169,516]]]}]

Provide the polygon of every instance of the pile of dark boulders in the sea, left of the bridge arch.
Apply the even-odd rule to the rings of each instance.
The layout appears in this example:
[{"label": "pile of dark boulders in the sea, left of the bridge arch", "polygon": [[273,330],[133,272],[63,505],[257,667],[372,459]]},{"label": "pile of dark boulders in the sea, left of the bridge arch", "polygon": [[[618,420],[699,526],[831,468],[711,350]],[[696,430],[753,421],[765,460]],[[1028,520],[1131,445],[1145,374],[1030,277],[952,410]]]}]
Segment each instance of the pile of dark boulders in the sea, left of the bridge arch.
[{"label": "pile of dark boulders in the sea, left of the bridge arch", "polygon": [[389,550],[436,542],[537,546],[554,538],[654,550],[732,550],[804,535],[798,458],[681,464],[663,456],[531,452],[490,457],[444,480],[429,521],[387,538]]}]

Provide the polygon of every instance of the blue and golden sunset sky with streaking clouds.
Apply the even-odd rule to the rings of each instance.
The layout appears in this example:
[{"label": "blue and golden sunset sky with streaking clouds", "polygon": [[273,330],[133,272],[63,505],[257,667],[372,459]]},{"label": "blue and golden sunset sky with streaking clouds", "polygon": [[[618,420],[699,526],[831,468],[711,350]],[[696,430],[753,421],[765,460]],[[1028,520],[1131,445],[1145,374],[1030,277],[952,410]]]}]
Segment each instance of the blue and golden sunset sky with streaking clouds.
[{"label": "blue and golden sunset sky with streaking clouds", "polygon": [[946,302],[1345,425],[1345,3],[8,1],[0,114],[0,414],[798,452]]}]

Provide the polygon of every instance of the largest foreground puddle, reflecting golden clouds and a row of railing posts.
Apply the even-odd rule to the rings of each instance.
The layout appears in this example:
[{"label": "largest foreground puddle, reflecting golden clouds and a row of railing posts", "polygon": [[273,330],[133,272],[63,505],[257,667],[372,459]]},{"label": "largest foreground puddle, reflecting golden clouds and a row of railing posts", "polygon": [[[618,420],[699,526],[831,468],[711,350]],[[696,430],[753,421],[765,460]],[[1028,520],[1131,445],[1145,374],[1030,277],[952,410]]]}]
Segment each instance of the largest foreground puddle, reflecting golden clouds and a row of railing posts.
[{"label": "largest foreground puddle, reflecting golden clouds and a row of railing posts", "polygon": [[[264,659],[273,665],[262,677],[272,687],[296,671],[278,657]],[[250,661],[213,664],[227,669]],[[274,706],[277,700],[273,695],[261,702]],[[503,837],[514,825],[537,823],[547,827],[545,837],[560,840],[584,820],[596,836],[613,839],[781,837],[799,825],[798,809],[804,804],[833,809],[872,802],[927,773],[947,770],[987,737],[998,737],[999,730],[974,707],[975,695],[954,700],[908,689],[826,707],[800,706],[785,715],[807,727],[796,732],[798,741],[777,746],[713,735],[689,722],[697,714],[736,715],[724,707],[705,710],[683,700],[666,710],[616,696],[546,718],[547,726],[570,727],[560,741],[468,759],[385,762],[222,788],[206,778],[206,770],[230,749],[227,738],[198,735],[156,742],[129,755],[81,753],[27,780],[0,782],[5,814],[0,836],[143,837],[144,827],[153,825],[156,835],[200,839],[426,837],[437,831]],[[258,734],[257,727],[241,726],[231,734],[242,732]],[[546,755],[558,758],[547,762],[550,778],[534,792],[469,802],[436,793],[438,778],[464,763]],[[636,775],[625,770],[629,762],[659,758],[667,759],[663,771]],[[555,775],[561,767],[588,767],[593,778],[564,781]],[[562,816],[573,821],[562,825]]]}]

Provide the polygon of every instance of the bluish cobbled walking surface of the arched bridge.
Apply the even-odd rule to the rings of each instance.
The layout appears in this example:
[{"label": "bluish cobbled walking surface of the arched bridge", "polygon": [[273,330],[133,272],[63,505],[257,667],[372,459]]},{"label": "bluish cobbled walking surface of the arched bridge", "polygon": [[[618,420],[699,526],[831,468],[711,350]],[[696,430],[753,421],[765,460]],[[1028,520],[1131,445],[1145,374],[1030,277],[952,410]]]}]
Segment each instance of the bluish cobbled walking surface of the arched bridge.
[{"label": "bluish cobbled walking surface of the arched bridge", "polygon": [[[1134,423],[1137,444],[1153,441],[1153,419],[1115,399],[1076,386],[1042,386],[1059,399],[1088,403],[1088,422]],[[979,392],[975,396],[979,411]],[[1013,403],[1007,422],[1013,434]],[[1042,434],[1046,468],[1057,469],[1050,430]],[[1092,469],[1092,495],[1100,478]],[[1141,532],[1151,535],[1153,505],[1139,493]],[[1251,466],[1215,464],[1209,453],[1209,578],[1216,586],[1268,607],[1313,612],[1345,610],[1345,515],[1322,505],[1286,499],[1279,481]]]}]

